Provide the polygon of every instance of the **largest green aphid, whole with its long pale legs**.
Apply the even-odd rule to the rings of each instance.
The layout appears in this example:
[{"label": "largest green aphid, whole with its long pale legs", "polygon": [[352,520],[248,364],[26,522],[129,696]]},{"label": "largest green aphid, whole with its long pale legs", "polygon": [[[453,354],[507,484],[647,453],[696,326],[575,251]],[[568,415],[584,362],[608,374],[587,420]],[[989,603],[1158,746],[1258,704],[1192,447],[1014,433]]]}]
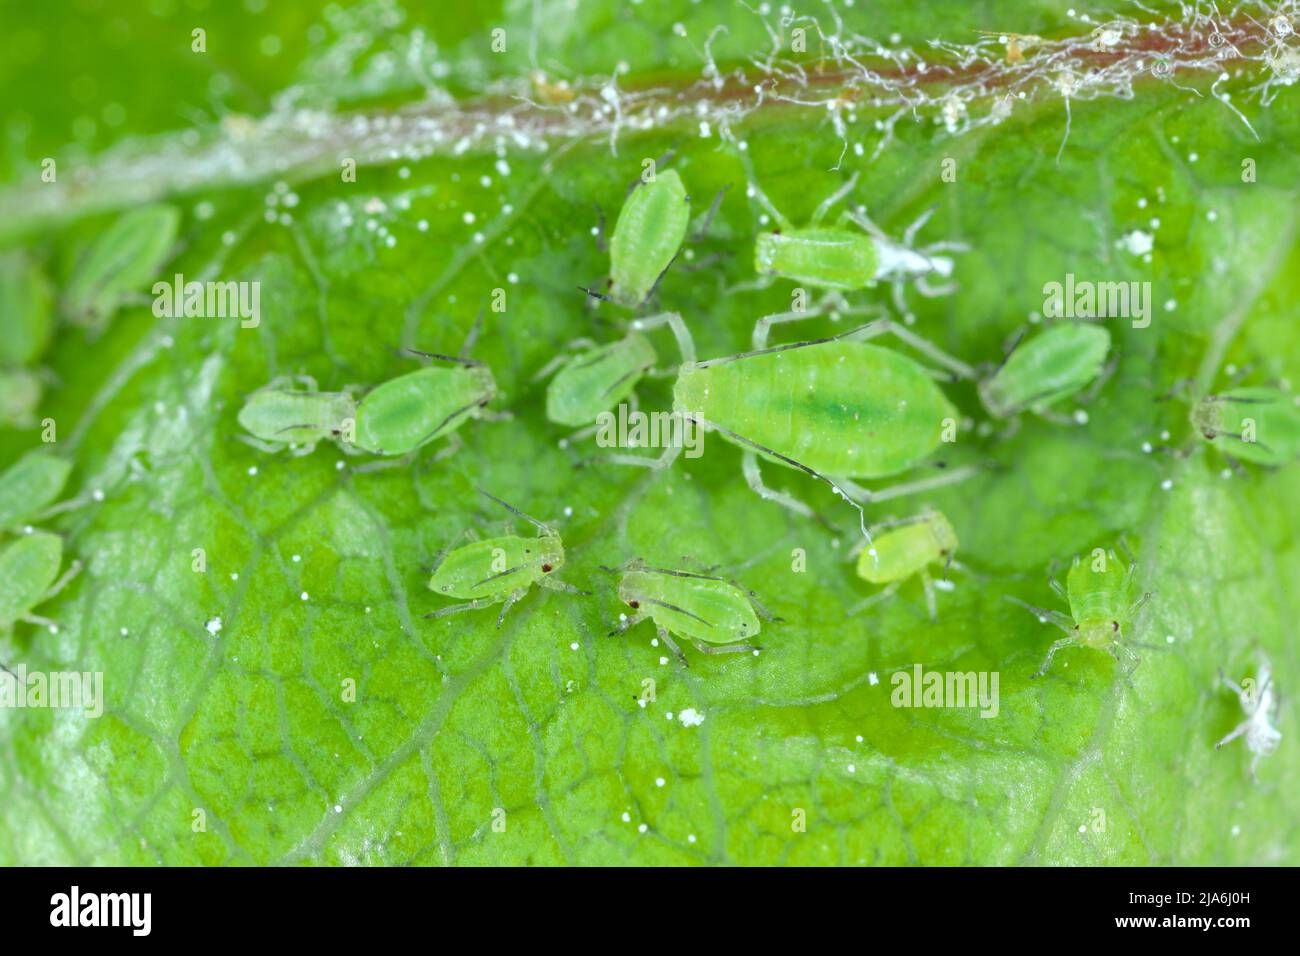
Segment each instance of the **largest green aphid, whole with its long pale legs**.
[{"label": "largest green aphid, whole with its long pale legs", "polygon": [[[770,319],[758,321],[755,342],[766,343],[764,323]],[[956,408],[923,365],[866,339],[890,333],[936,362],[962,375],[974,375],[970,367],[888,319],[831,338],[708,362],[696,362],[694,341],[676,312],[632,323],[641,332],[658,325],[672,329],[682,359],[673,385],[672,414],[740,445],[745,480],[768,501],[814,516],[803,502],[763,484],[759,458],[827,483],[859,514],[855,498],[881,501],[950,484],[974,472],[974,468],[956,468],[940,477],[878,492],[853,481],[907,471],[939,446],[944,428],[957,420]],[[864,388],[864,382],[871,386]],[[667,468],[680,451],[681,444],[673,442],[659,458],[615,454],[604,459]],[[864,519],[862,531],[866,535]]]}]

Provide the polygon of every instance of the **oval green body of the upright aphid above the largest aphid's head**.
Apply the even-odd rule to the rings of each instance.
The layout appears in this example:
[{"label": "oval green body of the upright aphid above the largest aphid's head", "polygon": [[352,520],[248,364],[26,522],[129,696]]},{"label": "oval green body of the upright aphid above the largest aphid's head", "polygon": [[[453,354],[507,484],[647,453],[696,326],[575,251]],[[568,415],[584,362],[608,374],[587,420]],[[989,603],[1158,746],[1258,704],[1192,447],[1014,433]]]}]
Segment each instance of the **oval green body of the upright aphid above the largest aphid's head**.
[{"label": "oval green body of the upright aphid above the largest aphid's head", "polygon": [[690,224],[686,187],[676,170],[638,185],[623,204],[610,237],[610,295],[620,306],[640,306],[681,248]]}]

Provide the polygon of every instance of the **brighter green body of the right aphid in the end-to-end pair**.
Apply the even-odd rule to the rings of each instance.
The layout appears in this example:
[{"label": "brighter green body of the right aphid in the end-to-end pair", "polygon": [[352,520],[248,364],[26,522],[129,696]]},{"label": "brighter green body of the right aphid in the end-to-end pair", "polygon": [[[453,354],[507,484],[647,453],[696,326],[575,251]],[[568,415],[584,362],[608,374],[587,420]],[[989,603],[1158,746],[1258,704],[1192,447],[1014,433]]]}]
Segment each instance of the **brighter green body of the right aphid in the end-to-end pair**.
[{"label": "brighter green body of the right aphid in the end-to-end pair", "polygon": [[455,432],[495,394],[485,365],[421,368],[368,393],[356,406],[356,446],[404,455]]}]

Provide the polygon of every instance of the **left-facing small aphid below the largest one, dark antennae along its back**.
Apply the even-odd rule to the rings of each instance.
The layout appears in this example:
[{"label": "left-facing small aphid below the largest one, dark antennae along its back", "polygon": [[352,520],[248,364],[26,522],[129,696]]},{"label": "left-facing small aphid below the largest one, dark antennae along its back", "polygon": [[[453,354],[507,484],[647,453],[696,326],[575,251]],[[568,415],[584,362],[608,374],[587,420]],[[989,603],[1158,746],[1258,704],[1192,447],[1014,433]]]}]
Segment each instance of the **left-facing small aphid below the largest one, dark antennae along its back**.
[{"label": "left-facing small aphid below the largest one, dark antennae along its back", "polygon": [[737,641],[758,636],[759,614],[775,620],[754,592],[725,578],[649,567],[640,558],[604,570],[623,572],[619,600],[636,611],[610,633],[623,633],[649,618],[682,666],[689,666],[686,657],[670,635],[685,637],[702,654],[751,653],[759,648]]}]

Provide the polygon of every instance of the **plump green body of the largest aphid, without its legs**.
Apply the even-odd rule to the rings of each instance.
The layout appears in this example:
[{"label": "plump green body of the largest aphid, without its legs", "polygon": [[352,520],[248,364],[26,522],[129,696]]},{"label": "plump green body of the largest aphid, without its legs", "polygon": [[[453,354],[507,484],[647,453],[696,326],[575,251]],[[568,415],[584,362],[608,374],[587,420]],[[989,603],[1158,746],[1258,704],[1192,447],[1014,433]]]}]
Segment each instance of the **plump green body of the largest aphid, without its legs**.
[{"label": "plump green body of the largest aphid, without its legs", "polygon": [[863,342],[682,367],[673,410],[844,477],[906,471],[957,416],[918,363]]}]

